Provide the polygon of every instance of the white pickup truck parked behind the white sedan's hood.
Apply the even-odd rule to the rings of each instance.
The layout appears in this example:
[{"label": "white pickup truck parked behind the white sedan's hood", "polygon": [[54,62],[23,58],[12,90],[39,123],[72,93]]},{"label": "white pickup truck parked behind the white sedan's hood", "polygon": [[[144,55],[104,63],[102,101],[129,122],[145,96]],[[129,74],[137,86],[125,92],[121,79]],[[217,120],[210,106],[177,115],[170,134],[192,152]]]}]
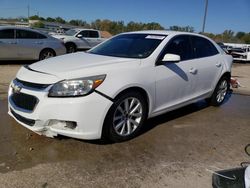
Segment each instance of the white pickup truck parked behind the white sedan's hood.
[{"label": "white pickup truck parked behind the white sedan's hood", "polygon": [[52,36],[63,40],[67,53],[88,50],[106,40],[106,38],[101,37],[100,31],[94,29],[74,28],[66,31],[63,35]]}]

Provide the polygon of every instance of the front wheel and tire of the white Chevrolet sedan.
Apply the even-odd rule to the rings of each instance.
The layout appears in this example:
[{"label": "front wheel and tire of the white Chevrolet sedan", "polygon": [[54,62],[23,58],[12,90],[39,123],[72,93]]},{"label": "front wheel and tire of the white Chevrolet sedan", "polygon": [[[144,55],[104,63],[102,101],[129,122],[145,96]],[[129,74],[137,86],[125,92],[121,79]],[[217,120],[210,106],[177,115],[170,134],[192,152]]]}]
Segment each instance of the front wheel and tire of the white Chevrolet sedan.
[{"label": "front wheel and tire of the white Chevrolet sedan", "polygon": [[134,138],[147,118],[147,103],[138,92],[128,92],[117,99],[105,118],[102,139],[122,142]]}]

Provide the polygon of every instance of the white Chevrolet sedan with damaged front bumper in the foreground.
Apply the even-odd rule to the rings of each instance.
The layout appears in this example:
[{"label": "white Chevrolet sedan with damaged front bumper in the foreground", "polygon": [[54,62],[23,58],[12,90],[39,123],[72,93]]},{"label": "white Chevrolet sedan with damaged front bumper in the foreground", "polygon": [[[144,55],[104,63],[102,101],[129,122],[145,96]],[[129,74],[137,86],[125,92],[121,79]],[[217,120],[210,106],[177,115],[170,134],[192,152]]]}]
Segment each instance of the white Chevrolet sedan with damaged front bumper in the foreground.
[{"label": "white Chevrolet sedan with damaged front bumper in the foreground", "polygon": [[9,114],[50,137],[124,141],[147,118],[202,99],[221,105],[231,66],[232,56],[199,34],[124,33],[22,67],[10,85]]}]

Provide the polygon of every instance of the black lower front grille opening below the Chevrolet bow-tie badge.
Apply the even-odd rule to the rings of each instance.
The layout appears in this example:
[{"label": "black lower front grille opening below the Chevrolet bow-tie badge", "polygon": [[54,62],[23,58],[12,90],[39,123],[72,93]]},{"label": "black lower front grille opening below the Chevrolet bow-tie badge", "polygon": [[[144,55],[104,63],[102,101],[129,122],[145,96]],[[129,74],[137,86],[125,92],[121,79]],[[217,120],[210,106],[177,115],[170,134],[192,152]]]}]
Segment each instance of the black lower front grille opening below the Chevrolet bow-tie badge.
[{"label": "black lower front grille opening below the Chevrolet bow-tie badge", "polygon": [[18,108],[28,111],[33,111],[38,103],[36,97],[24,93],[13,93],[10,98]]}]

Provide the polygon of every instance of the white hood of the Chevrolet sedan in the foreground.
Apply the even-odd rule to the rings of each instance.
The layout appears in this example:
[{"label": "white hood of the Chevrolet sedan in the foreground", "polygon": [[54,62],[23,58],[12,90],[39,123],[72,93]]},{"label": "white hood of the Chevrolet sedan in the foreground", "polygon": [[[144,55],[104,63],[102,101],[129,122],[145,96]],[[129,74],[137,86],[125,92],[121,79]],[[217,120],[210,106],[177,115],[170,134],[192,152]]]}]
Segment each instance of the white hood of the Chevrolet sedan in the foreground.
[{"label": "white hood of the Chevrolet sedan in the foreground", "polygon": [[105,74],[111,69],[124,67],[120,64],[125,62],[128,63],[125,66],[133,66],[133,64],[138,64],[140,60],[78,52],[31,64],[29,69],[62,79],[69,79],[79,76],[91,76],[93,74]]}]

